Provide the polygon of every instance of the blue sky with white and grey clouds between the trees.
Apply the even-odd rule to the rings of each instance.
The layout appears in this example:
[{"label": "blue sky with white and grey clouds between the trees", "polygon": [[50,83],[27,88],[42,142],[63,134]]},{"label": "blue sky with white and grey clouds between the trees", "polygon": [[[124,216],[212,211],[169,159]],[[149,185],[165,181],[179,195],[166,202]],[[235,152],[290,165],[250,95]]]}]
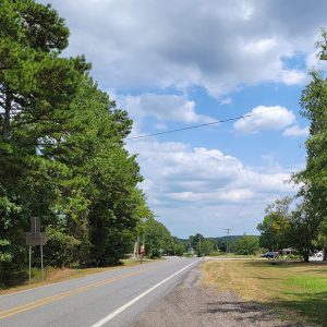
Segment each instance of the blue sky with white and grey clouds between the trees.
[{"label": "blue sky with white and grey clouds between the trees", "polygon": [[[320,0],[52,0],[71,31],[64,56],[134,120],[149,207],[173,235],[257,234],[265,207],[294,195],[308,121],[301,92],[327,27]],[[206,128],[149,133],[235,119]]]}]

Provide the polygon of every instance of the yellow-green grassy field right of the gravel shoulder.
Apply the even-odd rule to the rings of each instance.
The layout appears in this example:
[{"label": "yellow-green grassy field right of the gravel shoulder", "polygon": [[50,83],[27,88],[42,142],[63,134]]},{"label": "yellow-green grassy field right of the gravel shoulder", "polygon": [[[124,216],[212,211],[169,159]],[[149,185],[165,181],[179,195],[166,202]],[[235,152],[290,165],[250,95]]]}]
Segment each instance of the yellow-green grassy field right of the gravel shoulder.
[{"label": "yellow-green grassy field right of the gravel shoulder", "polygon": [[216,261],[202,265],[203,281],[219,291],[264,303],[281,317],[327,326],[327,265],[280,261]]}]

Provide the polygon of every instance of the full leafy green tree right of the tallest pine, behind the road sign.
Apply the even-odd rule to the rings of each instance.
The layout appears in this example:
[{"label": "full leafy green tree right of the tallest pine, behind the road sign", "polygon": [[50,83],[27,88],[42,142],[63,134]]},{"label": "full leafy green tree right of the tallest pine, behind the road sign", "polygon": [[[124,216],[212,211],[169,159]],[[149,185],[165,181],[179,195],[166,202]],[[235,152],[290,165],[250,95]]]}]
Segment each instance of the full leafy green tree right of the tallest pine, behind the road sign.
[{"label": "full leafy green tree right of the tallest pine, behind the road sign", "polygon": [[65,195],[61,211],[73,235],[89,239],[85,264],[118,263],[131,246],[130,232],[148,210],[136,187],[142,175],[135,156],[123,148],[132,121],[90,78],[81,82],[71,111],[75,116],[65,136],[58,135],[45,149],[70,170],[60,187]]}]

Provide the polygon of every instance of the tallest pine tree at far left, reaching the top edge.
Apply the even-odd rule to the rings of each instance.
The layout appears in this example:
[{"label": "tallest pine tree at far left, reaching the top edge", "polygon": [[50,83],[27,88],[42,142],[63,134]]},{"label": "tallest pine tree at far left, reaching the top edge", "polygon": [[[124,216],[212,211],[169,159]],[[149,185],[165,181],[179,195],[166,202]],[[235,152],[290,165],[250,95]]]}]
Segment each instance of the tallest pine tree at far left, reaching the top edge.
[{"label": "tallest pine tree at far left, reaching the top edge", "polygon": [[[0,2],[0,242],[7,284],[26,275],[28,220],[53,217],[58,164],[38,155],[69,117],[83,59],[63,59],[69,31],[50,7],[32,0]],[[3,113],[2,113],[3,112]],[[5,261],[4,261],[5,258]],[[3,272],[2,272],[3,271]],[[16,275],[16,276],[15,276]]]}]

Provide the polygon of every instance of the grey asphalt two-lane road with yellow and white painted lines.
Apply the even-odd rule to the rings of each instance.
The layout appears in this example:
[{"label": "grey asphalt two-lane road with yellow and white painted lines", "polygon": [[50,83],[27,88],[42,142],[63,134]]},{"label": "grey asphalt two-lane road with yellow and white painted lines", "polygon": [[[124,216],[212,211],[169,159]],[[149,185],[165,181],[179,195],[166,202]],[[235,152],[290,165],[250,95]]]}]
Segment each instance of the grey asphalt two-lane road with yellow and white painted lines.
[{"label": "grey asphalt two-lane road with yellow and white painted lines", "polygon": [[2,295],[0,326],[129,326],[199,262],[172,257]]}]

